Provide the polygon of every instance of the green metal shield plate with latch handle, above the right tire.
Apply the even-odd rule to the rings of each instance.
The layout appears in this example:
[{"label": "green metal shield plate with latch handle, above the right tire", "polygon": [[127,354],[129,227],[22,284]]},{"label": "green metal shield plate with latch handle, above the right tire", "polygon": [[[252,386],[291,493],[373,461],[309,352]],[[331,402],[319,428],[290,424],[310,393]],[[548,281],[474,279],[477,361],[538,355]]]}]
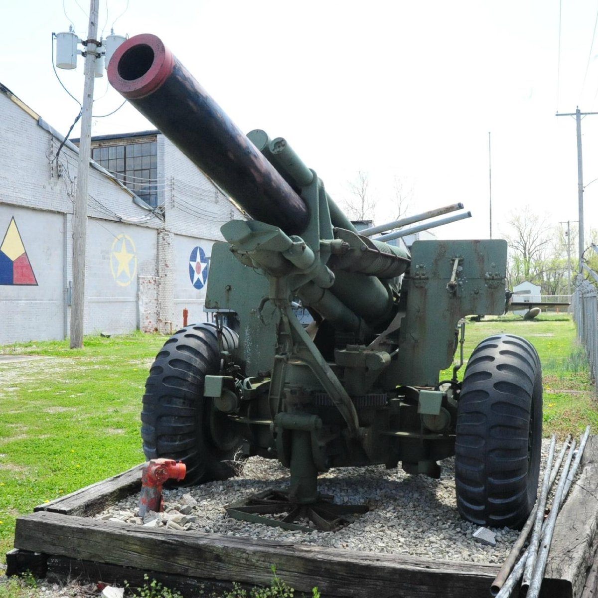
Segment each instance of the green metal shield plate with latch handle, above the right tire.
[{"label": "green metal shield plate with latch handle, above the right tire", "polygon": [[506,274],[505,240],[413,243],[401,289],[407,301],[401,358],[386,375],[407,386],[436,386],[438,373],[453,362],[459,319],[504,313]]}]

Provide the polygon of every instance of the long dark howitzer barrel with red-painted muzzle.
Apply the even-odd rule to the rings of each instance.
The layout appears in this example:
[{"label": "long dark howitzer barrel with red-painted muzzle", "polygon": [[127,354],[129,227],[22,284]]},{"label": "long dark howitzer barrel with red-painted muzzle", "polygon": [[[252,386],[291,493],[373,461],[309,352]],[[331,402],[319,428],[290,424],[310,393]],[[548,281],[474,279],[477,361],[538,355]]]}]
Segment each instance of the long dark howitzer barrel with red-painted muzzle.
[{"label": "long dark howitzer barrel with red-painted muzzle", "polygon": [[307,226],[307,206],[155,35],[127,39],[108,80],[197,167],[257,220],[287,234]]}]

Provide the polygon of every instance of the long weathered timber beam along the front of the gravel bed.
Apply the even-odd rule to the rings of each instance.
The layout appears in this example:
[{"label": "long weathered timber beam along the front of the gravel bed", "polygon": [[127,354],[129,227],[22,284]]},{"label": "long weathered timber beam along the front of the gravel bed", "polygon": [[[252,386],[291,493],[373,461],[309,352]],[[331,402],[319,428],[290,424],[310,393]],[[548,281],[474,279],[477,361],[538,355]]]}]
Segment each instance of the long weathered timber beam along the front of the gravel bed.
[{"label": "long weathered timber beam along the front of the gravel bed", "polygon": [[[276,565],[280,577],[298,591],[310,593],[318,585],[322,594],[360,598],[483,596],[498,572],[492,565],[171,532],[45,511],[17,520],[15,545],[141,571],[252,585],[269,585],[270,566]],[[552,596],[566,595],[558,581],[551,587]]]}]

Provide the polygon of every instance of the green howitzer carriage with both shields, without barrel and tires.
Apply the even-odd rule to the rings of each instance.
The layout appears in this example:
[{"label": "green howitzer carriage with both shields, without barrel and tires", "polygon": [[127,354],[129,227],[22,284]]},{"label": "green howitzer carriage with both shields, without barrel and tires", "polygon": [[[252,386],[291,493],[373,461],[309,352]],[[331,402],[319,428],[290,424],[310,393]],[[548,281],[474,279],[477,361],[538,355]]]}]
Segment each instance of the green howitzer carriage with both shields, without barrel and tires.
[{"label": "green howitzer carriage with both shields, without barrel and tires", "polygon": [[[504,310],[507,257],[500,240],[416,242],[410,255],[335,226],[316,176],[301,197],[310,213],[301,237],[258,221],[222,227],[228,244],[212,254],[206,300],[238,314],[233,359],[246,376],[238,403],[217,379],[206,396],[221,390],[216,406],[246,431],[246,454],[290,468],[288,529],[319,504],[318,473],[331,466],[401,462],[440,475],[437,460],[454,454],[458,384],[434,389],[438,373],[453,359],[460,318]],[[308,330],[296,298],[316,316]],[[237,506],[232,516],[256,521],[282,508]]]}]

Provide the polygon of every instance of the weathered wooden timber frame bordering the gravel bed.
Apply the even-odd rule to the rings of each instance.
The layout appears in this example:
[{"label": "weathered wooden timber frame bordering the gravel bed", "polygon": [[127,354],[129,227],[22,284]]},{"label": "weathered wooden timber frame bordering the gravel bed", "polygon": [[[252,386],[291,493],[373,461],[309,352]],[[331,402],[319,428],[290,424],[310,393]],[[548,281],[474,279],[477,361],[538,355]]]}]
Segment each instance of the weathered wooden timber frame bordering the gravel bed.
[{"label": "weathered wooden timber frame bordering the gravel bed", "polygon": [[[199,588],[269,585],[276,573],[297,591],[359,598],[489,596],[496,565],[426,560],[212,533],[179,532],[96,520],[94,514],[139,492],[141,465],[78,490],[17,519],[14,558],[45,555],[48,572],[135,585],[143,573],[198,596]],[[405,505],[405,508],[417,508]],[[541,596],[596,596],[598,437],[590,437],[582,471],[557,518]],[[9,554],[11,554],[9,553]],[[39,559],[39,554],[35,556]],[[26,560],[26,558],[25,558]],[[13,565],[14,567],[14,565]],[[589,574],[589,575],[588,575]],[[591,587],[586,585],[586,580]],[[585,590],[584,590],[585,586]]]}]

